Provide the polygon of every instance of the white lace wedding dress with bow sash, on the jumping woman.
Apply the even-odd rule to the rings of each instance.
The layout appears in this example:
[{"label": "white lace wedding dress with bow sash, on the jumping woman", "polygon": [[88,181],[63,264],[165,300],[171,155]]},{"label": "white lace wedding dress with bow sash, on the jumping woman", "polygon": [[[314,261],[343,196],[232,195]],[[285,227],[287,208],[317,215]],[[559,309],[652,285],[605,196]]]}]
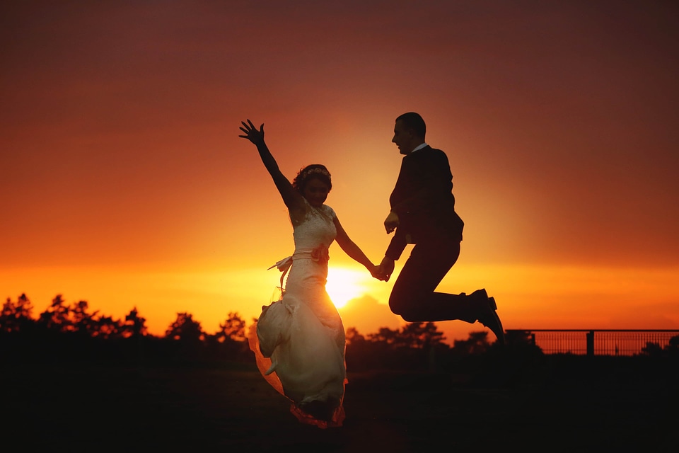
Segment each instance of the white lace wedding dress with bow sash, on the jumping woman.
[{"label": "white lace wedding dress with bow sash, on the jumping woman", "polygon": [[289,268],[283,296],[262,306],[250,348],[267,381],[293,402],[292,413],[326,428],[344,419],[344,326],[325,291],[327,249],[337,230],[331,207],[306,206],[294,225],[294,255],[276,263]]}]

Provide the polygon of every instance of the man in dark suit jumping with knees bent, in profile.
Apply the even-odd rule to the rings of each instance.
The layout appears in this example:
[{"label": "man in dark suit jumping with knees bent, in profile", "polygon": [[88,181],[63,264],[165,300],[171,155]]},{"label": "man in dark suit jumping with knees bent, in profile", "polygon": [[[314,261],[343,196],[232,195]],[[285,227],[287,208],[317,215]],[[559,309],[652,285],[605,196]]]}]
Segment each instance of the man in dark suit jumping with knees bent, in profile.
[{"label": "man in dark suit jumping with knees bent, in profile", "polygon": [[464,222],[455,212],[448,156],[424,142],[425,132],[417,113],[396,118],[392,142],[404,157],[384,221],[387,234],[395,233],[380,265],[381,277],[389,280],[405,246],[415,246],[394,283],[390,309],[409,322],[479,321],[503,344],[495,299],[485,289],[470,295],[434,292],[460,256]]}]

